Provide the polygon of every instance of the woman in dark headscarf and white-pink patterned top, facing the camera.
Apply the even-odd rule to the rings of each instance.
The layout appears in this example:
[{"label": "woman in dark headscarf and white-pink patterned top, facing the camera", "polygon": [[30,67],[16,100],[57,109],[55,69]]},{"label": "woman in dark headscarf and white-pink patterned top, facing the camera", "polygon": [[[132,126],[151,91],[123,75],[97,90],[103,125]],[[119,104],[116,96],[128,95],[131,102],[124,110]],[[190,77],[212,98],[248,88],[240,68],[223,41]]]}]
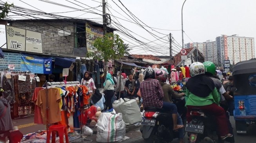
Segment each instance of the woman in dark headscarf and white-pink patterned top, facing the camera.
[{"label": "woman in dark headscarf and white-pink patterned top, facing the camera", "polygon": [[81,85],[84,85],[88,88],[88,92],[90,93],[90,96],[93,95],[94,90],[96,89],[96,86],[94,84],[93,78],[90,77],[89,71],[85,71],[84,77],[81,80]]}]

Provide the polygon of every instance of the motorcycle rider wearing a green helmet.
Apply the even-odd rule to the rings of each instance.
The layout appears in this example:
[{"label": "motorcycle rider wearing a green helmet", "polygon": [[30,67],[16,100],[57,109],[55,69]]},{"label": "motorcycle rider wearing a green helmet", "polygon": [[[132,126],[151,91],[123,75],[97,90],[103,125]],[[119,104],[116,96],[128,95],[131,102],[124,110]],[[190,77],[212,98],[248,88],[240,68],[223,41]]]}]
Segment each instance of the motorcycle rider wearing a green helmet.
[{"label": "motorcycle rider wearing a green helmet", "polygon": [[[215,64],[210,61],[206,61],[203,63],[203,65],[205,66],[205,75],[213,80],[214,85],[218,91],[218,97],[220,97],[220,106],[223,107],[226,113],[229,132],[233,134],[232,124],[229,120],[229,113],[227,112],[227,110],[229,109],[227,100],[231,100],[233,97],[226,92],[225,88],[222,85],[222,82],[219,79],[214,78],[214,75],[216,73]],[[229,142],[234,143],[234,136],[232,138],[229,138]]]}]

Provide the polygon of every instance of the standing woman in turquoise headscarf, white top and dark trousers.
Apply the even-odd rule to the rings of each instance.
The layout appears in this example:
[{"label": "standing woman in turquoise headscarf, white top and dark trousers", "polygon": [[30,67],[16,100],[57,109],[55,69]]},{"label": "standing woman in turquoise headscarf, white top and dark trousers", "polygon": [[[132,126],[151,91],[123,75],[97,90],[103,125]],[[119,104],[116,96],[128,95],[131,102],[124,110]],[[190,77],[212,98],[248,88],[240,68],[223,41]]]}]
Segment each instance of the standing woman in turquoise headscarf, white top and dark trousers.
[{"label": "standing woman in turquoise headscarf, white top and dark trousers", "polygon": [[107,107],[112,108],[112,97],[114,96],[114,81],[110,73],[107,73],[106,80],[103,83],[103,92],[106,95]]}]

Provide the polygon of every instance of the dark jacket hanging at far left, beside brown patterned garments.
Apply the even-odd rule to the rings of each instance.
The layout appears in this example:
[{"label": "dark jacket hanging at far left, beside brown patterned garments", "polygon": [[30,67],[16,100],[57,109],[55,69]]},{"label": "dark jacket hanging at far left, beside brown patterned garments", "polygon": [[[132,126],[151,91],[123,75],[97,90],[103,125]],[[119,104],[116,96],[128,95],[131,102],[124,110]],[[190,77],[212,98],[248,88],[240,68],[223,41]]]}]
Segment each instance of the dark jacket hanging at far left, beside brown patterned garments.
[{"label": "dark jacket hanging at far left, beside brown patterned garments", "polygon": [[[1,74],[2,75],[2,74]],[[4,98],[10,103],[15,103],[14,84],[12,79],[7,79],[6,75],[3,76],[3,95]]]}]

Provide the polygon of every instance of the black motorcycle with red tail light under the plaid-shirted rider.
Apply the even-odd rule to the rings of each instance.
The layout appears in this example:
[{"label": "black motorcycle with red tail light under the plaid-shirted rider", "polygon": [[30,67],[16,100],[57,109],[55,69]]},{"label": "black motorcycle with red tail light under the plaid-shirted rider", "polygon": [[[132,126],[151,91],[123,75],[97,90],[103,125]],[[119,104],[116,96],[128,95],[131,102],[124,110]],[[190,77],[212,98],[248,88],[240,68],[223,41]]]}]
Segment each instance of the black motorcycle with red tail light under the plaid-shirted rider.
[{"label": "black motorcycle with red tail light under the plaid-shirted rider", "polygon": [[[172,99],[172,101],[176,104],[183,125],[185,125],[187,122],[185,98],[175,98]],[[162,108],[145,107],[143,116],[145,119],[142,120],[143,126],[140,131],[142,132],[142,138],[147,141],[147,143],[153,143],[154,141],[156,143],[171,142],[173,139],[179,138],[179,132],[173,131],[172,114],[169,111]]]}]

